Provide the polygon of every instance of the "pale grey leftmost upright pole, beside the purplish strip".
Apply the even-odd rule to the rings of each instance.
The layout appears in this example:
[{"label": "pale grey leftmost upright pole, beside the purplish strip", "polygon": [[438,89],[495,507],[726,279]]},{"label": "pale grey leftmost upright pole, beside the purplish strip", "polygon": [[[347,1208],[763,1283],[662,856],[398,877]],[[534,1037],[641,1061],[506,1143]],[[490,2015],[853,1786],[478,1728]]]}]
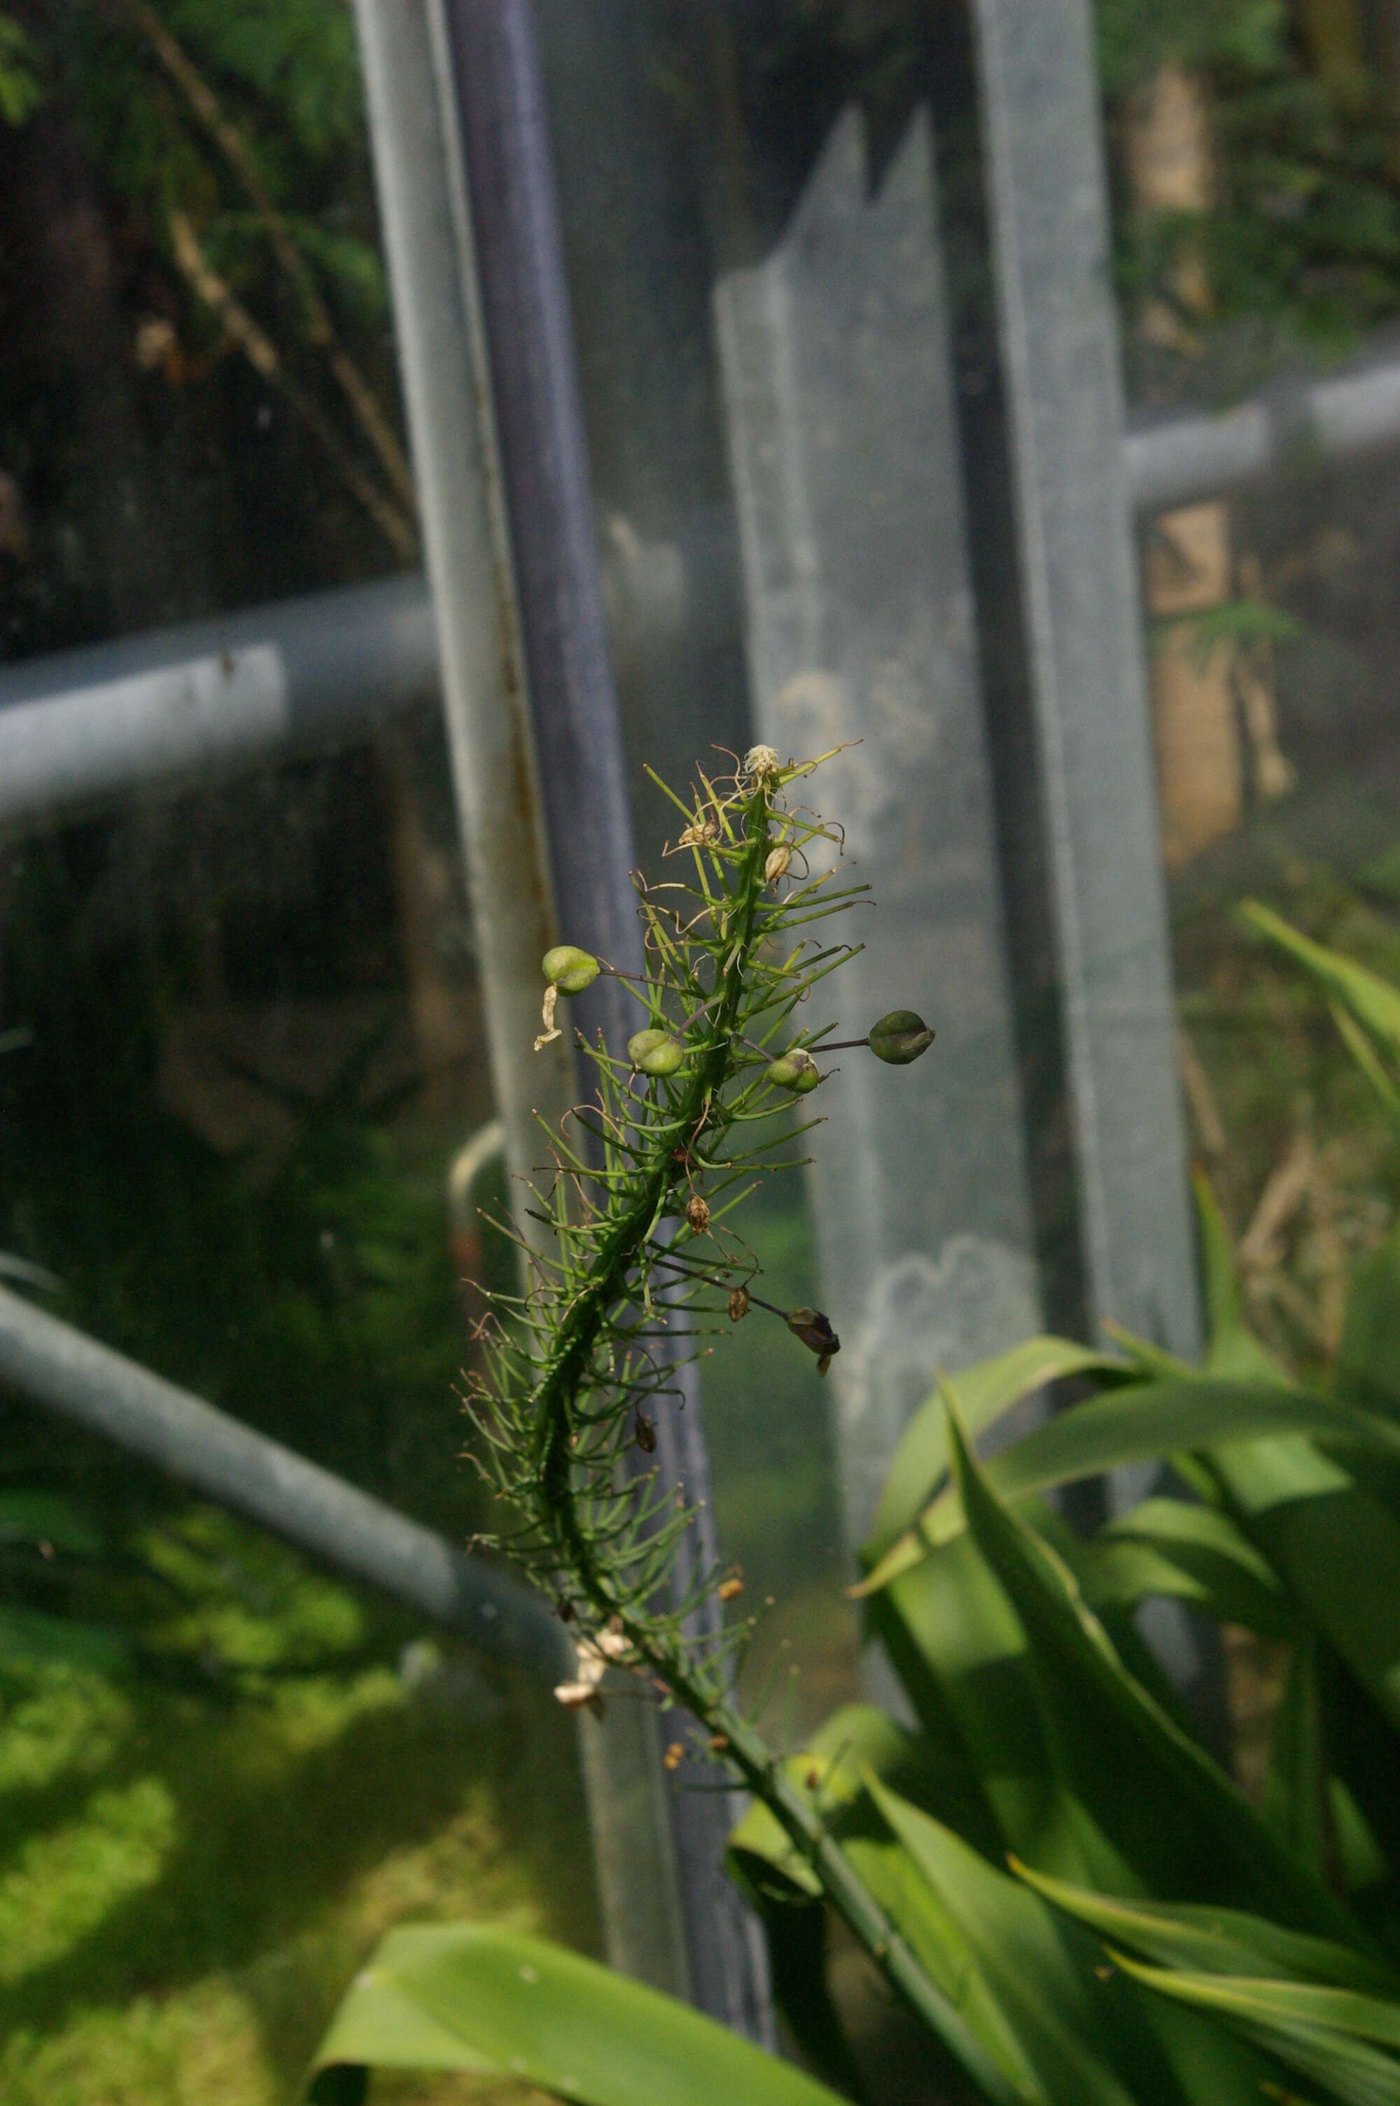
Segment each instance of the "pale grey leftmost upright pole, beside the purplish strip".
[{"label": "pale grey leftmost upright pole, beside the purplish strip", "polygon": [[[528,1051],[556,920],[448,40],[421,0],[356,0],[356,15],[493,1078],[509,1165],[528,1175],[543,1156],[537,1114],[554,1125],[568,1110],[573,1074],[562,1040]],[[602,1723],[583,1721],[581,1748],[608,1959],[686,1994],[655,1721],[615,1704]]]}]

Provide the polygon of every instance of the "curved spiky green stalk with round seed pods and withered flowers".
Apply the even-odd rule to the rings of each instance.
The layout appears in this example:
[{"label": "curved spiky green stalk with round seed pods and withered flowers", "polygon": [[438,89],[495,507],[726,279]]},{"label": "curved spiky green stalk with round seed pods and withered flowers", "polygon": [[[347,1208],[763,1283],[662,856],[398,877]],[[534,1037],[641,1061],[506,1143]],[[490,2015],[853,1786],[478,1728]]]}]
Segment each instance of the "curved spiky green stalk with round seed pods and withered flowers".
[{"label": "curved spiky green stalk with round seed pods and withered flowers", "polygon": [[[691,872],[655,889],[638,878],[646,971],[619,979],[640,1028],[625,1057],[579,1034],[598,1085],[573,1114],[585,1139],[575,1148],[552,1135],[549,1188],[533,1190],[552,1243],[516,1238],[528,1285],[497,1297],[467,1403],[482,1434],[478,1462],[516,1518],[503,1548],[579,1630],[579,1670],[560,1702],[596,1706],[608,1668],[661,1683],[781,1822],[891,1984],[1000,2100],[1011,2093],[956,2007],[893,1929],[813,1796],[735,1706],[735,1653],[752,1617],[697,1634],[693,1611],[709,1596],[735,1598],[737,1580],[705,1571],[682,1601],[669,1598],[695,1512],[634,1453],[655,1449],[648,1413],[680,1396],[676,1369],[697,1356],[695,1342],[739,1320],[749,1302],[773,1310],[752,1293],[758,1268],[726,1215],[739,1188],[779,1167],[794,1133],[811,1125],[775,1116],[821,1082],[813,1053],[823,1034],[794,1034],[794,1013],[859,946],[823,946],[804,931],[865,891],[840,882],[840,859],[811,876],[817,845],[840,849],[836,828],[787,800],[813,767],[781,767],[760,746],[728,786],[701,775],[691,804],[672,798],[686,821],[672,853],[688,853]],[[539,1045],[558,1036],[560,996],[583,992],[600,971],[613,967],[575,946],[547,954]],[[857,1042],[903,1064],[931,1038],[918,1017],[895,1011]],[[760,1129],[752,1148],[747,1127]],[[693,1243],[701,1251],[686,1257]],[[825,1371],[840,1339],[821,1310],[775,1314]]]}]

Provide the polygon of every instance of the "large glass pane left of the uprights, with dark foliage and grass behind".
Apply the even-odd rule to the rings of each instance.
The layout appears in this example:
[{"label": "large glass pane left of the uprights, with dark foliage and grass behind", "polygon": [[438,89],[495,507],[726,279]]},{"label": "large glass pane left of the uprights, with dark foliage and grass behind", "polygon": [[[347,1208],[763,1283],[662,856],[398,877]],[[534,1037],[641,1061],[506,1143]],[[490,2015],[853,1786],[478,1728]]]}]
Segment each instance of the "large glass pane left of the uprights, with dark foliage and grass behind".
[{"label": "large glass pane left of the uprights, with dark foliage and grass behind", "polygon": [[[0,1278],[461,1542],[493,1104],[352,17],[0,29]],[[17,1396],[0,1499],[6,2100],[272,2106],[404,1916],[596,1944],[547,1697]]]}]

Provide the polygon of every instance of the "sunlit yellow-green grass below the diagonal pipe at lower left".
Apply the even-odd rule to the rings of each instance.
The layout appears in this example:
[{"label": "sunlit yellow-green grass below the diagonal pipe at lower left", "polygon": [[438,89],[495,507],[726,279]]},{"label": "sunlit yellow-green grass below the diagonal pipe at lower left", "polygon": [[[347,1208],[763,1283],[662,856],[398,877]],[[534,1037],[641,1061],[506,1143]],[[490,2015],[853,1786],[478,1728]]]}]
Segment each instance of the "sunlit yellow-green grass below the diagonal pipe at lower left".
[{"label": "sunlit yellow-green grass below the diagonal pipe at lower left", "polygon": [[[286,1552],[242,1537],[253,1565]],[[375,1603],[301,1573],[295,1645],[223,1697],[67,1668],[0,1672],[0,2098],[6,2106],[282,2106],[392,1923],[491,1916],[596,1950],[573,1729],[465,1660],[385,1657]],[[223,1636],[259,1653],[255,1617]],[[234,1630],[234,1626],[238,1626]],[[267,1662],[276,1672],[267,1672]],[[472,2100],[396,2083],[377,2098]],[[499,2093],[495,2093],[499,2098]]]}]

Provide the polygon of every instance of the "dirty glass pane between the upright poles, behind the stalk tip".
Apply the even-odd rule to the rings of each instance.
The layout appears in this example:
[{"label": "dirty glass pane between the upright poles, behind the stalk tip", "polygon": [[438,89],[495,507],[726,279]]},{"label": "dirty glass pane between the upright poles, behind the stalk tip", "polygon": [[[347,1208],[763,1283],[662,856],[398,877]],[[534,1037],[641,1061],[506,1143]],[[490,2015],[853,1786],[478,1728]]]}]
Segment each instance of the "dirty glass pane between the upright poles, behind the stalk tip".
[{"label": "dirty glass pane between the upright poles, behind the stalk tip", "polygon": [[857,1689],[851,1552],[935,1367],[1040,1318],[962,470],[989,316],[968,27],[539,21],[642,853],[667,832],[642,760],[686,781],[754,737],[846,746],[817,802],[880,906],[838,1013],[939,1032],[899,1074],[844,1055],[811,1181],[752,1203],[764,1291],[823,1297],[842,1337],[827,1384],[777,1325],[705,1363],[722,1548],[777,1598],[754,1687],[777,1666],[806,1723]]}]

